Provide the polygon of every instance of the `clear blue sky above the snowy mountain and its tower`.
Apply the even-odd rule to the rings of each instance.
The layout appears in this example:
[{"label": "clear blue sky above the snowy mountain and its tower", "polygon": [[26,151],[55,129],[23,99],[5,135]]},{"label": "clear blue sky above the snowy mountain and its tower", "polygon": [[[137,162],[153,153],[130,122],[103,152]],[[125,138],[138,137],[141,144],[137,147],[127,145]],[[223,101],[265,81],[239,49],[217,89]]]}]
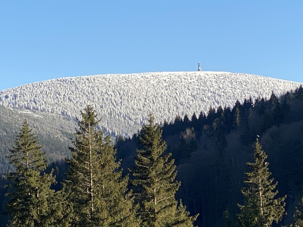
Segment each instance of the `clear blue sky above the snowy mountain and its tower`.
[{"label": "clear blue sky above the snowy mountain and its tower", "polygon": [[303,82],[303,1],[0,1],[0,90],[51,78],[230,71]]}]

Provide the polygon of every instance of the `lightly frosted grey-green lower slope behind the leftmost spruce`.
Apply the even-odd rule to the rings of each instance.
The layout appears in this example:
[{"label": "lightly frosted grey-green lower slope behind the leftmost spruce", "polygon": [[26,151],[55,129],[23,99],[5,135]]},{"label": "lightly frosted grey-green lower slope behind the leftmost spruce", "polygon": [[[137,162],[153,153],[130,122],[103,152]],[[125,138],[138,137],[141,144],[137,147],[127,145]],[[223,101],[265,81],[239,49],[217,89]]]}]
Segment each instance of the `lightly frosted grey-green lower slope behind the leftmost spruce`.
[{"label": "lightly frosted grey-green lower slope behind the leftmost spruce", "polygon": [[51,113],[32,113],[29,110],[14,110],[0,106],[0,176],[11,170],[7,158],[15,136],[19,133],[24,119],[27,119],[33,131],[38,135],[43,152],[49,162],[64,159],[69,155],[68,146],[73,137],[76,122],[72,119]]}]

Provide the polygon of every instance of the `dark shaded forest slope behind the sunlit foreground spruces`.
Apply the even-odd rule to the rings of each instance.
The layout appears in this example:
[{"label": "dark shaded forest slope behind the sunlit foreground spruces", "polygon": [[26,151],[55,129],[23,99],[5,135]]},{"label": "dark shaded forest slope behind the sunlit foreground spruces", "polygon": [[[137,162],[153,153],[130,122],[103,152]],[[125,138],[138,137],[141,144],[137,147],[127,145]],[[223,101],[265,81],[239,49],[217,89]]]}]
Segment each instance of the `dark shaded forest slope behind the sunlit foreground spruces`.
[{"label": "dark shaded forest slope behind the sunlit foreground spruces", "polygon": [[[253,161],[256,138],[268,155],[278,195],[286,198],[290,224],[303,189],[303,89],[281,97],[272,93],[266,100],[237,101],[235,106],[210,108],[161,123],[166,153],[172,153],[181,181],[176,196],[191,214],[199,213],[198,226],[235,226],[238,203],[244,196],[246,163]],[[122,167],[134,163],[139,132],[132,138],[118,138],[116,148]]]}]

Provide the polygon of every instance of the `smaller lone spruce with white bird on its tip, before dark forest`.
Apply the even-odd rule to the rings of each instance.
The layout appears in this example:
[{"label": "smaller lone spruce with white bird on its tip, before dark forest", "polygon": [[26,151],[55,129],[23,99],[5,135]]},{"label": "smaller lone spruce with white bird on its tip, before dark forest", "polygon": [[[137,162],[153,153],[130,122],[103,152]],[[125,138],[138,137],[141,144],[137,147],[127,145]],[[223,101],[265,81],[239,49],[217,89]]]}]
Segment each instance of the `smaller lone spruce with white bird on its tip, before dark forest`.
[{"label": "smaller lone spruce with white bird on its tip, before dark forest", "polygon": [[285,211],[285,198],[277,197],[275,189],[277,182],[271,178],[268,171],[267,155],[262,150],[258,139],[255,142],[254,163],[247,163],[250,172],[244,181],[247,187],[242,188],[245,205],[238,205],[241,212],[238,215],[240,226],[270,227],[272,223],[282,219]]}]

